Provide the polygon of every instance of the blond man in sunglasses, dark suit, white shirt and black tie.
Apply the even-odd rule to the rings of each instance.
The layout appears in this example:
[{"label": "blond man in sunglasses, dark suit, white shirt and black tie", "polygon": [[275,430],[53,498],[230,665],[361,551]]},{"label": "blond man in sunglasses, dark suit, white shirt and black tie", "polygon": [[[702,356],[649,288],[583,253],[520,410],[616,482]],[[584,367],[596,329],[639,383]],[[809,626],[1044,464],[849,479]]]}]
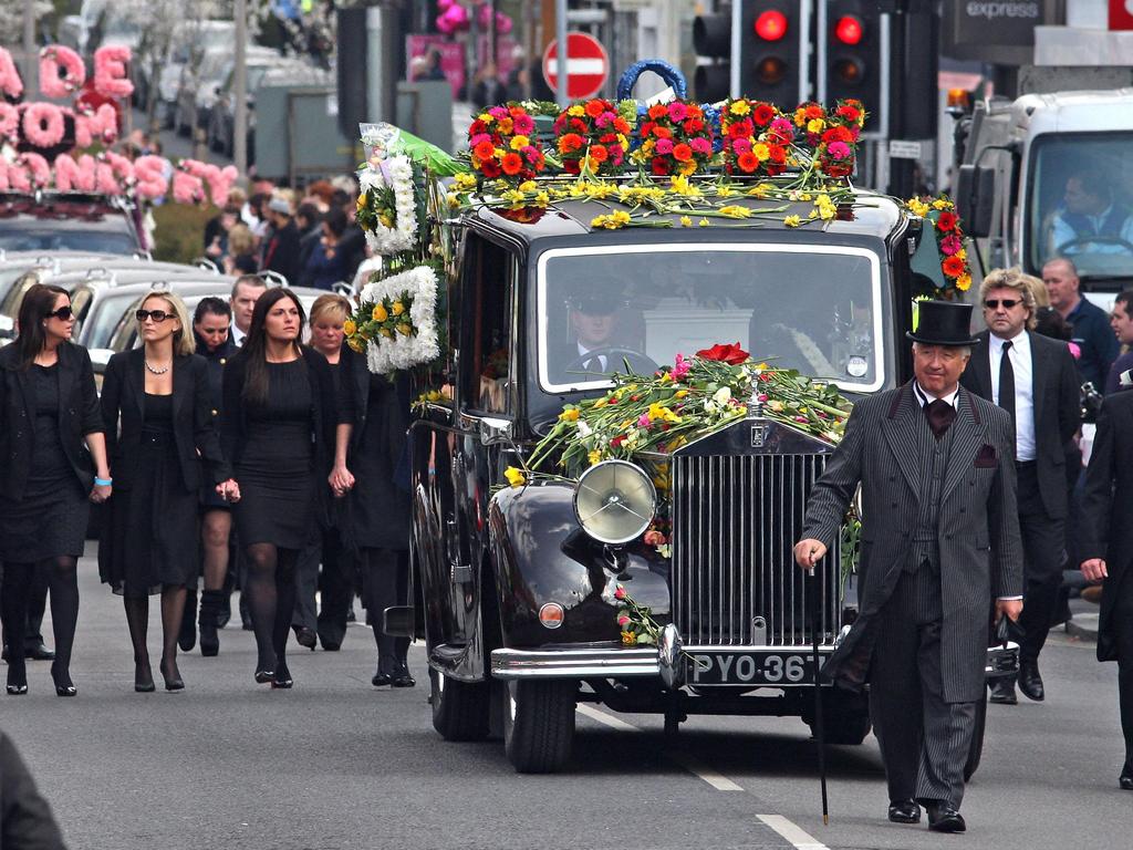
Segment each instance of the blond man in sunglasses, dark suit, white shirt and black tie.
[{"label": "blond man in sunglasses, dark suit, white shirt and black tie", "polygon": [[[1013,637],[1020,645],[1019,687],[1045,696],[1039,653],[1062,585],[1066,550],[1065,445],[1079,427],[1077,372],[1068,346],[1032,333],[1034,298],[1019,269],[996,269],[980,284],[983,321],[961,383],[995,402],[1015,427],[1019,525],[1023,536],[1026,606]],[[991,702],[1014,705],[1015,683],[999,679]]]}]

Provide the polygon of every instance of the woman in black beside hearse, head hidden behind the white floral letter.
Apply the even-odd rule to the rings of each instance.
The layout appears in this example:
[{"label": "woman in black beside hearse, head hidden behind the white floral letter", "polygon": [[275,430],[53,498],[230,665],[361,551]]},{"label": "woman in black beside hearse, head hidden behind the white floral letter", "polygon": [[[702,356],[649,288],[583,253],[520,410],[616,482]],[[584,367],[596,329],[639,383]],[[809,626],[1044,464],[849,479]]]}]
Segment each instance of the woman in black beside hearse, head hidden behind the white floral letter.
[{"label": "woman in black beside hearse, head hidden behind the white floral letter", "polygon": [[377,641],[374,687],[410,688],[408,638],[382,631],[383,612],[406,604],[409,583],[409,492],[397,483],[409,426],[404,379],[374,375],[365,355],[342,349],[338,428],[331,488],[350,495],[349,537],[359,550],[366,615]]}]

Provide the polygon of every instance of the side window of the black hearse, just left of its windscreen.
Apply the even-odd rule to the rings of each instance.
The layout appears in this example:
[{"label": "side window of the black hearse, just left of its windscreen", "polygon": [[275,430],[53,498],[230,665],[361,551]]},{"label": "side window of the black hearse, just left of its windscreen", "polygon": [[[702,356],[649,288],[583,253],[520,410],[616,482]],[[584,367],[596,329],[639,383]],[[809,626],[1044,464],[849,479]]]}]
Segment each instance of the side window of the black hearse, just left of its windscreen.
[{"label": "side window of the black hearse, just left of its windscreen", "polygon": [[465,366],[461,398],[467,409],[510,410],[511,299],[516,260],[505,249],[469,235],[465,253]]}]

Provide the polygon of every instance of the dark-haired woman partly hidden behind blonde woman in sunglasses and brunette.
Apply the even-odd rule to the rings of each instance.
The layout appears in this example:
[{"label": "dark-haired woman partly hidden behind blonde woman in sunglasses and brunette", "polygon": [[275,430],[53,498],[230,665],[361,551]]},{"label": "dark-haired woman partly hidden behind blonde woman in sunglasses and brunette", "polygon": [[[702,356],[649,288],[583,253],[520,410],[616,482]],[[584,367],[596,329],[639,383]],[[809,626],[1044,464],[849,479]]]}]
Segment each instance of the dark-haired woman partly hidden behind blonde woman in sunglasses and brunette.
[{"label": "dark-haired woman partly hidden behind blonde woman in sunglasses and brunette", "polygon": [[[193,314],[197,354],[208,364],[208,398],[214,423],[220,422],[224,366],[239,350],[229,330],[232,308],[221,298],[202,298]],[[228,609],[224,579],[228,576],[229,538],[232,534],[231,502],[207,485],[201,490],[201,544],[204,555],[205,589],[201,594],[201,654],[220,652],[220,617]],[[189,610],[186,604],[186,610]]]}]

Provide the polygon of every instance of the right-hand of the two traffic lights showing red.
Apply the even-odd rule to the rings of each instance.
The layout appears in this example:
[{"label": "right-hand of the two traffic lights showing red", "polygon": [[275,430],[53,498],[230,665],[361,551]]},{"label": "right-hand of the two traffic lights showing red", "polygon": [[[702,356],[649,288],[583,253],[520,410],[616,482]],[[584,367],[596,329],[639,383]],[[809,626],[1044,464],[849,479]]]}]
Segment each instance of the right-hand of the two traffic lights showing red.
[{"label": "right-hand of the two traffic lights showing red", "polygon": [[886,44],[877,0],[818,3],[818,100],[860,100],[868,112],[864,130],[885,126],[883,79]]}]

